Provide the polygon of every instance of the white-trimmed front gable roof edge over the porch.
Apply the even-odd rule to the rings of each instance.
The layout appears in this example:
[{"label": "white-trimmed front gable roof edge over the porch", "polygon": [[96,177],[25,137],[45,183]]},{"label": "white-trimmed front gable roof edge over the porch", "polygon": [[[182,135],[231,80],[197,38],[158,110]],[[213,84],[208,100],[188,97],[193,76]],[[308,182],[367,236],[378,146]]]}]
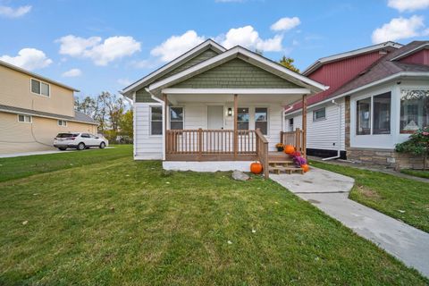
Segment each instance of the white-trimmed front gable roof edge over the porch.
[{"label": "white-trimmed front gable roof edge over the porch", "polygon": [[262,55],[250,52],[248,49],[242,46],[235,46],[231,49],[223,52],[220,55],[216,55],[202,63],[198,63],[185,71],[178,72],[171,77],[168,77],[164,80],[159,80],[153,82],[149,85],[148,90],[153,91],[154,93],[159,93],[162,88],[170,87],[182,80],[187,80],[190,77],[193,77],[201,72],[208,71],[215,66],[218,66],[222,63],[226,63],[234,58],[240,58],[243,61],[256,65],[257,67],[269,71],[274,75],[277,75],[284,80],[289,80],[300,87],[305,87],[310,89],[313,92],[319,92],[327,89],[323,84],[310,80],[307,77],[295,72],[290,71],[286,67],[282,66],[279,63],[275,63]]}]

